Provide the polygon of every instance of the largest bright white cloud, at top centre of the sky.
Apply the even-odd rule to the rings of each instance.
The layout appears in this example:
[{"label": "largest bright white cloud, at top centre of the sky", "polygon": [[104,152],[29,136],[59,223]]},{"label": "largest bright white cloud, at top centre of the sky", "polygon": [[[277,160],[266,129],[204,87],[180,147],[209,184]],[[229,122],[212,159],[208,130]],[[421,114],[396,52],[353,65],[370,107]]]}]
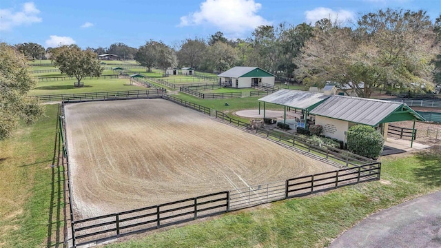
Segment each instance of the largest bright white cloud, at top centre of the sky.
[{"label": "largest bright white cloud, at top centre of the sky", "polygon": [[260,8],[262,5],[254,0],[206,0],[199,11],[181,17],[178,26],[214,25],[220,31],[240,34],[270,24],[256,14]]}]

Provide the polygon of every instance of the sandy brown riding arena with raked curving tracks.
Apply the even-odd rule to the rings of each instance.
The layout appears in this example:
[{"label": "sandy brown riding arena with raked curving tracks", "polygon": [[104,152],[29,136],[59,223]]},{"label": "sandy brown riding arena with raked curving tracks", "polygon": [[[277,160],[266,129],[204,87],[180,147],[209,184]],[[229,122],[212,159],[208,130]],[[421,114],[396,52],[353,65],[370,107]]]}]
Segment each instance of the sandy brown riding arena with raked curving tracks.
[{"label": "sandy brown riding arena with raked curving tracks", "polygon": [[336,169],[163,99],[70,103],[65,121],[79,218]]}]

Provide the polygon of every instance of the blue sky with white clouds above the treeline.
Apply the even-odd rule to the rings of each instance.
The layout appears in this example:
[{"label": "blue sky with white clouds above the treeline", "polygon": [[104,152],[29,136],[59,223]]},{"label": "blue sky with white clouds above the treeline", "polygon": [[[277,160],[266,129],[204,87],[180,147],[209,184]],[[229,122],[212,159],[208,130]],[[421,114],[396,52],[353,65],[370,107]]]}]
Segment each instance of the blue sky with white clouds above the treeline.
[{"label": "blue sky with white clouds above the treeline", "polygon": [[0,41],[45,48],[70,43],[106,48],[116,42],[138,48],[150,39],[175,45],[217,31],[230,39],[246,38],[258,25],[283,21],[354,20],[388,7],[426,10],[433,21],[441,14],[441,0],[2,0]]}]

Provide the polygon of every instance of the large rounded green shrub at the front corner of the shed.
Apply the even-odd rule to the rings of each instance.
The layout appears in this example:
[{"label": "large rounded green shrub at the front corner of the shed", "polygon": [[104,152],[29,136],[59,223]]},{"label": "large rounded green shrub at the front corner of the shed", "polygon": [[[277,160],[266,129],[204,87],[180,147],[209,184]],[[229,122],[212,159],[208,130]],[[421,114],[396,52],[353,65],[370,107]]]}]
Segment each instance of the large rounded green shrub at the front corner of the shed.
[{"label": "large rounded green shrub at the front corner of the shed", "polygon": [[377,159],[383,150],[383,136],[367,125],[350,127],[346,139],[349,151],[360,156]]}]

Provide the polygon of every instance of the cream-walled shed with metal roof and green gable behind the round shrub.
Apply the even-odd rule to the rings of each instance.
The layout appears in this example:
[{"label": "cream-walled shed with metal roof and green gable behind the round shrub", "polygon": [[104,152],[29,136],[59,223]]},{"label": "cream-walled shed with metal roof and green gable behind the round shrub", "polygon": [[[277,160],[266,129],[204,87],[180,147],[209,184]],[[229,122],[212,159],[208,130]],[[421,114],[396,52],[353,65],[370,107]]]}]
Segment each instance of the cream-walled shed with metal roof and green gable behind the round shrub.
[{"label": "cream-walled shed with metal roof and green gable behind the round shrub", "polygon": [[323,134],[346,142],[349,127],[357,124],[379,127],[387,138],[388,123],[396,121],[425,121],[406,103],[365,99],[353,96],[329,96],[310,114],[316,115],[316,125],[322,125]]}]

